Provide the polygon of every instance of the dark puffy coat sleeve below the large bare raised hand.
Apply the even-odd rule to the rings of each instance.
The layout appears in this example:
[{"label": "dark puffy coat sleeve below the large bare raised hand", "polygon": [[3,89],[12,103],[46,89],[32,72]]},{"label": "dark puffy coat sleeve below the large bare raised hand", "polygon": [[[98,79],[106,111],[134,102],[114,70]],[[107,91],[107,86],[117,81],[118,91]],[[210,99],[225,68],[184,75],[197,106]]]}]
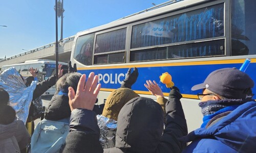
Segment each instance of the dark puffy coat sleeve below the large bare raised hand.
[{"label": "dark puffy coat sleeve below the large bare raised hand", "polygon": [[63,152],[103,152],[95,112],[86,109],[73,110],[69,129]]}]

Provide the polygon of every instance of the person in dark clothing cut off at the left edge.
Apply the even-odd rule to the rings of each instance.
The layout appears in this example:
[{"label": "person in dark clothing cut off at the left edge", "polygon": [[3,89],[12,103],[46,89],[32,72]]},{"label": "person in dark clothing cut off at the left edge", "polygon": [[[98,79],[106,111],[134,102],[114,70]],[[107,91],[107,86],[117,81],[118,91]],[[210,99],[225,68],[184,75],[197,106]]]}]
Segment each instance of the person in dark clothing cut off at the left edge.
[{"label": "person in dark clothing cut off at the left edge", "polygon": [[0,148],[1,152],[26,152],[30,135],[22,120],[17,120],[16,112],[8,106],[9,94],[0,88]]}]

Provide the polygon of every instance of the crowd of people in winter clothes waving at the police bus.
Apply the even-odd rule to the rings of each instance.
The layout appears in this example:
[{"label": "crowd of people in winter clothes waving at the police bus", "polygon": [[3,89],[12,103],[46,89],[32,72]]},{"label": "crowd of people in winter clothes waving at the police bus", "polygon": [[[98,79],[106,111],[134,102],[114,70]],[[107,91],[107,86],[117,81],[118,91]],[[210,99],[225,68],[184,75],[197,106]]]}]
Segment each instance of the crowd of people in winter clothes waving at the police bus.
[{"label": "crowd of people in winter clothes waving at the police bus", "polygon": [[[9,94],[0,88],[0,152],[254,152],[256,146],[256,103],[253,80],[236,68],[211,72],[191,90],[201,102],[203,123],[188,134],[182,109],[182,95],[170,87],[168,99],[150,78],[145,88],[156,101],[132,90],[139,69],[129,68],[120,88],[112,91],[105,104],[97,106],[101,85],[98,75],[80,74],[69,62],[69,73],[59,65],[56,92],[44,119],[32,136],[25,123],[8,105]],[[29,86],[33,78],[25,81]],[[22,77],[22,76],[21,76]],[[52,81],[50,81],[52,79]],[[54,76],[36,85],[33,99],[53,86]],[[87,80],[87,81],[86,81]],[[33,103],[31,103],[33,104]],[[98,109],[102,108],[102,109]],[[191,110],[193,111],[193,110]],[[30,108],[31,113],[31,108]],[[103,122],[102,118],[106,119]],[[107,126],[111,123],[112,127]],[[31,142],[29,142],[31,138]],[[28,147],[29,146],[29,147]]]}]

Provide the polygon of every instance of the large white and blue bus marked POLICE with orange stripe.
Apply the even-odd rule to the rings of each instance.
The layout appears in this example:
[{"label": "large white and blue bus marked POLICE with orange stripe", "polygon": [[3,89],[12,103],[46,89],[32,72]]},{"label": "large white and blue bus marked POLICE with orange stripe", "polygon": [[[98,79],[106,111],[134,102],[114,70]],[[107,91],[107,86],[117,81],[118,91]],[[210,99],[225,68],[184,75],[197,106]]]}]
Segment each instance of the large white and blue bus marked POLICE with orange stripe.
[{"label": "large white and blue bus marked POLICE with orange stripe", "polygon": [[168,96],[159,76],[170,73],[183,95],[188,131],[192,131],[200,127],[202,114],[198,91],[191,87],[210,72],[240,68],[250,58],[246,73],[256,83],[256,1],[172,2],[77,33],[71,61],[80,73],[99,75],[99,103],[120,87],[129,67],[139,71],[132,89],[153,99],[143,84],[155,80]]}]

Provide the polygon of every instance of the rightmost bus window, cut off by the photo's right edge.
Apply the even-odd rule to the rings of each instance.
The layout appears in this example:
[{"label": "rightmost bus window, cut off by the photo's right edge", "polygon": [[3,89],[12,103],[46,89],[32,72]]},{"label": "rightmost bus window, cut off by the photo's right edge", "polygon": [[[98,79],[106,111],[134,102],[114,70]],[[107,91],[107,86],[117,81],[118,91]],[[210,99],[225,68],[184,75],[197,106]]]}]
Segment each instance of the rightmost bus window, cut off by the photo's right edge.
[{"label": "rightmost bus window, cut off by the photo's right edge", "polygon": [[232,0],[231,3],[231,55],[255,55],[256,1]]}]

